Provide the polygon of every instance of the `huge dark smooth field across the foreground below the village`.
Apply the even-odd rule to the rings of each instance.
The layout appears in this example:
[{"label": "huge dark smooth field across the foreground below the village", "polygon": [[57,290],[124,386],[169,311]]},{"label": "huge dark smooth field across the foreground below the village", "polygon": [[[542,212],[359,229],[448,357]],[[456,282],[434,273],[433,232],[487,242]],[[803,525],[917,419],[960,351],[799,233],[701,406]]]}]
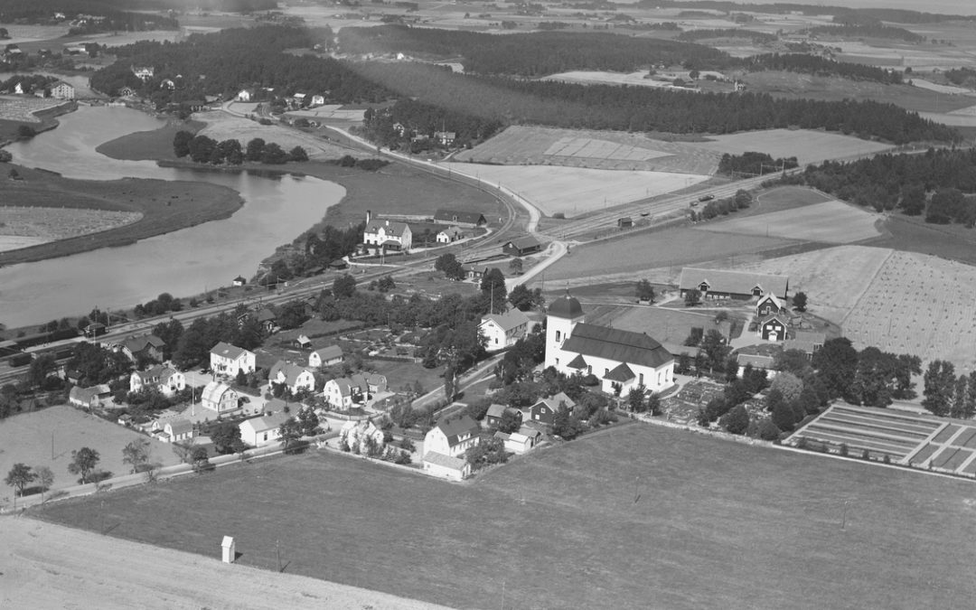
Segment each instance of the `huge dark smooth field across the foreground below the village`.
[{"label": "huge dark smooth field across the foreground below the village", "polygon": [[291,574],[461,607],[950,608],[976,593],[972,490],[631,425],[471,485],[308,455],[38,516],[209,556],[231,535],[245,566],[280,552]]}]

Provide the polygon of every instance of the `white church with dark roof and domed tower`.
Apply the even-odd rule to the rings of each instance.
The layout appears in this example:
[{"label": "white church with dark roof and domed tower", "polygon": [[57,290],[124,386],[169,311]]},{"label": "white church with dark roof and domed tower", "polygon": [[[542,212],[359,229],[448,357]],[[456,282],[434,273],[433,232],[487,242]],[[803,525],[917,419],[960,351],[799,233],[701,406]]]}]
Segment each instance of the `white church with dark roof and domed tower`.
[{"label": "white church with dark roof and domed tower", "polygon": [[660,392],[674,385],[674,356],[644,333],[584,322],[583,306],[566,296],[546,314],[546,367],[566,375],[595,375],[600,389],[621,396],[644,386]]}]

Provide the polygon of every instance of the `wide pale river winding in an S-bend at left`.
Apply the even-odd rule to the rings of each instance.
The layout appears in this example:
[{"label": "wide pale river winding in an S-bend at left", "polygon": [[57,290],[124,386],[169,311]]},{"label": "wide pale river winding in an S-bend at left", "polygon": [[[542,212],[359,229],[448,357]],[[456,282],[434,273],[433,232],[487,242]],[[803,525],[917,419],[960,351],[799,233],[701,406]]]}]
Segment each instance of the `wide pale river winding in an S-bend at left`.
[{"label": "wide pale river winding in an S-bend at left", "polygon": [[277,246],[325,216],[346,189],[315,178],[249,172],[209,172],[119,161],[95,151],[102,142],[156,129],[161,121],[121,107],[80,106],[61,125],[7,147],[14,161],[66,178],[123,177],[203,181],[229,186],[245,203],[233,216],[119,248],[0,268],[0,322],[39,324],[87,313],[92,307],[131,307],[160,293],[193,295],[251,277]]}]

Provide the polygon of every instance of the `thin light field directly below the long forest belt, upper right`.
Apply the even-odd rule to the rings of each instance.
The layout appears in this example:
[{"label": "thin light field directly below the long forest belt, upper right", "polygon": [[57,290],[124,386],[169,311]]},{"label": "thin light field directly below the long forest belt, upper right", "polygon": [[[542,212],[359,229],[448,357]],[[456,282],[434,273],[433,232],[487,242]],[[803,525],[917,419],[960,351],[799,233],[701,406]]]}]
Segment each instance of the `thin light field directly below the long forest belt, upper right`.
[{"label": "thin light field directly below the long forest belt, upper right", "polygon": [[742,154],[748,150],[765,152],[773,158],[796,157],[799,164],[820,163],[827,159],[842,159],[862,155],[893,146],[869,142],[852,136],[841,136],[808,129],[768,129],[727,136],[712,136],[712,142],[689,142],[688,146],[712,150],[718,154]]}]

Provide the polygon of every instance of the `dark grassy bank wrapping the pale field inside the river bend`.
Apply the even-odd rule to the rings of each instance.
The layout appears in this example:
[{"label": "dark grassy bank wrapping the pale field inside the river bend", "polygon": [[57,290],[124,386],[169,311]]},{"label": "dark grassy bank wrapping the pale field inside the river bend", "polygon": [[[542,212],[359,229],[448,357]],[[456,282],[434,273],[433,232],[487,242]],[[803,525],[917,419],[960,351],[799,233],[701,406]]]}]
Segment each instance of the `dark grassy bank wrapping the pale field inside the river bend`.
[{"label": "dark grassy bank wrapping the pale field inside the river bend", "polygon": [[52,172],[4,164],[5,174],[17,170],[20,180],[0,181],[0,205],[75,208],[132,212],[142,219],[107,230],[60,241],[0,252],[0,264],[19,264],[131,244],[140,239],[225,219],[244,200],[228,187],[211,183],[126,178],[81,181]]}]

